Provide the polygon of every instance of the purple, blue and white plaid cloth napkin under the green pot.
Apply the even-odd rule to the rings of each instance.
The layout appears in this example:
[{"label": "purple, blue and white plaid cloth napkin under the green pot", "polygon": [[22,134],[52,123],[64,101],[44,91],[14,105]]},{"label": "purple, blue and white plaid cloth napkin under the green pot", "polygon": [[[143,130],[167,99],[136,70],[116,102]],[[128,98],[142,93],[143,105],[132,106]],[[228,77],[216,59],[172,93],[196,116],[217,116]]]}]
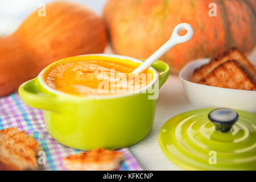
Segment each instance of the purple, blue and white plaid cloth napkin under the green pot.
[{"label": "purple, blue and white plaid cloth napkin under the green pot", "polygon": [[[46,164],[42,164],[40,169],[65,170],[61,159],[80,152],[56,142],[46,130],[42,110],[24,104],[18,93],[0,98],[0,130],[9,127],[18,127],[19,131],[26,131],[27,135],[39,142],[40,148],[46,154]],[[142,170],[128,148],[118,151],[123,152],[125,157],[119,170]]]}]

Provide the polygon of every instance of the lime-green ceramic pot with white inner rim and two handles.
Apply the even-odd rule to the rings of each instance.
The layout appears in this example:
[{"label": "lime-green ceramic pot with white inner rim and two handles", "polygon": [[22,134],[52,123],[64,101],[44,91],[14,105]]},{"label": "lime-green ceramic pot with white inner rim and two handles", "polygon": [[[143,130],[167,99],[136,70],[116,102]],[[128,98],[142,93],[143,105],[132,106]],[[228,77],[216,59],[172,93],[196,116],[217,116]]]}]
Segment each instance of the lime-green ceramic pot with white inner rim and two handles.
[{"label": "lime-green ceramic pot with white inner rim and two handles", "polygon": [[[48,65],[38,77],[20,85],[20,97],[27,105],[42,109],[48,133],[57,142],[71,148],[117,149],[146,137],[154,121],[156,104],[156,100],[148,99],[152,95],[148,91],[117,96],[80,97],[51,89],[43,81],[42,75],[48,68],[64,61],[85,59],[118,59],[141,63],[131,57],[107,54],[68,57]],[[169,76],[168,65],[156,61],[150,69],[154,72],[154,79],[147,88],[158,84],[160,88]],[[158,94],[156,90],[155,94]]]}]

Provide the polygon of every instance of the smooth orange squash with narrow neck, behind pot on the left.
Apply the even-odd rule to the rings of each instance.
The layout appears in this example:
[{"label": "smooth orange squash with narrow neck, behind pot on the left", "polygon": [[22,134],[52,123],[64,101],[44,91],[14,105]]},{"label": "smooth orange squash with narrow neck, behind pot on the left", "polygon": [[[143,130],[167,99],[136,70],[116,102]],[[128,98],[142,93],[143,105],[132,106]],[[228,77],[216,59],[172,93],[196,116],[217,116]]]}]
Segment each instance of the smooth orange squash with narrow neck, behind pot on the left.
[{"label": "smooth orange squash with narrow neck, behind pot on the left", "polygon": [[47,4],[46,16],[36,10],[13,34],[0,38],[0,97],[53,61],[102,53],[106,42],[103,20],[87,7],[64,1]]}]

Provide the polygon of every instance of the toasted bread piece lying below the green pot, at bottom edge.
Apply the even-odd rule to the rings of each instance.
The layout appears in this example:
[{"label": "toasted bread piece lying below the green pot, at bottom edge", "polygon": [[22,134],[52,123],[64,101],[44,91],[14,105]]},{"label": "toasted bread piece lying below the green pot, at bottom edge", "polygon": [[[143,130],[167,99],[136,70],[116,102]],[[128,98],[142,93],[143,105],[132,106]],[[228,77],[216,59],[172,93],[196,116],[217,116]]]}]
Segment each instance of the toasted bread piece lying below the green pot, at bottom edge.
[{"label": "toasted bread piece lying below the green pot, at bottom edge", "polygon": [[65,168],[71,171],[112,171],[118,169],[122,152],[97,148],[63,158]]}]

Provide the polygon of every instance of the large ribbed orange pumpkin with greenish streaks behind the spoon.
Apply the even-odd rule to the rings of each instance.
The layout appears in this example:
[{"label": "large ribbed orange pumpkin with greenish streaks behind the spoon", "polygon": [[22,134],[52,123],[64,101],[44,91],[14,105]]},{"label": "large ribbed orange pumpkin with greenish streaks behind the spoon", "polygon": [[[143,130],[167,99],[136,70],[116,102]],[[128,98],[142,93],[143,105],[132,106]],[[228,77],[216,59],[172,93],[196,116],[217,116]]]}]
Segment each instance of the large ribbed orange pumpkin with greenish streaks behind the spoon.
[{"label": "large ribbed orange pumpkin with greenish streaks behind the spoon", "polygon": [[[217,16],[209,16],[210,3],[215,3]],[[256,40],[255,1],[251,0],[109,0],[104,18],[114,51],[137,59],[146,59],[162,46],[177,24],[191,24],[193,38],[161,58],[172,72],[229,47],[250,51]]]}]

